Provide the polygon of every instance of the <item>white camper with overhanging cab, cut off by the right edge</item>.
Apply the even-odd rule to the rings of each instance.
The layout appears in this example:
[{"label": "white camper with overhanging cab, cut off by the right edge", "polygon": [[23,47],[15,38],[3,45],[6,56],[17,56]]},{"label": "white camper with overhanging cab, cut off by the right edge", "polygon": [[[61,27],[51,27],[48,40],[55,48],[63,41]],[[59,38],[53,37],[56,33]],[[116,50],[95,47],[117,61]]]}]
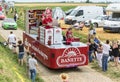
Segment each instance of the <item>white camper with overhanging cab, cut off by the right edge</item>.
[{"label": "white camper with overhanging cab, cut off by the right edge", "polygon": [[106,32],[119,32],[120,33],[120,3],[109,4],[106,8],[110,14],[109,20],[105,21],[103,30]]}]

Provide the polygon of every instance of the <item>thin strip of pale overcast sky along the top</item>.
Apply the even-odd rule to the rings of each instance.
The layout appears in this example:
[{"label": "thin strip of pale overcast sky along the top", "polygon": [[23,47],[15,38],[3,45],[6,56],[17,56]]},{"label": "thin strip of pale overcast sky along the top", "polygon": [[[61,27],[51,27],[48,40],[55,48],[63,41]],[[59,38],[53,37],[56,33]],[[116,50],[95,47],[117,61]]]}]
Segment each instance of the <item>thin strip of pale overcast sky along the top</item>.
[{"label": "thin strip of pale overcast sky along the top", "polygon": [[[16,2],[60,2],[60,1],[75,1],[81,2],[86,0],[6,0],[6,1],[16,1]],[[120,0],[90,0],[92,2],[120,2]]]}]

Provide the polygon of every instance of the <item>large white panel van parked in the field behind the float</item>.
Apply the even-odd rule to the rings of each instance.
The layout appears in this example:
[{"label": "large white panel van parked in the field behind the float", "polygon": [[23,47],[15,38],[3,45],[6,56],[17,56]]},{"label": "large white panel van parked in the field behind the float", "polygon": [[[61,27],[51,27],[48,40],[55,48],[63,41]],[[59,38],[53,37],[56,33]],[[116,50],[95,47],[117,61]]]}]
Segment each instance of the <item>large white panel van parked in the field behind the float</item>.
[{"label": "large white panel van parked in the field behind the float", "polygon": [[78,6],[70,15],[66,16],[66,24],[74,24],[76,22],[86,21],[97,16],[103,15],[103,7],[99,6]]}]

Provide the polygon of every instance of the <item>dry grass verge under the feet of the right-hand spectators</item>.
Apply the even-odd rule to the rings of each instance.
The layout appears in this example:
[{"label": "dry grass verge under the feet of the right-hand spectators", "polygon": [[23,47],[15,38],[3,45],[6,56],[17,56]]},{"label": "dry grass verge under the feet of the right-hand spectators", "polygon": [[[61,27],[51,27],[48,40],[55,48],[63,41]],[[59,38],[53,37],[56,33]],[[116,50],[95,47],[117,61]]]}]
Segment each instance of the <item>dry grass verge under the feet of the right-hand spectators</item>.
[{"label": "dry grass verge under the feet of the right-hand spectators", "polygon": [[90,63],[89,65],[97,72],[100,72],[103,75],[110,77],[114,82],[120,81],[120,65],[118,67],[114,67],[114,62],[110,61],[108,63],[108,70],[106,72],[102,71],[102,68],[98,66],[98,62],[96,60],[94,60],[94,62]]}]

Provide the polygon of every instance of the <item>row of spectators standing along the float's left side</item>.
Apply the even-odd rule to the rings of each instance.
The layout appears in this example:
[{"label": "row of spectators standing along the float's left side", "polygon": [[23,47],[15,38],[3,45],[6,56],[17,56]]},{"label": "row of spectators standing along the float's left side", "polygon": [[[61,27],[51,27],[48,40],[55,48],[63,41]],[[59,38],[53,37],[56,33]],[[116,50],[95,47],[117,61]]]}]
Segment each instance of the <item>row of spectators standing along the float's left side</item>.
[{"label": "row of spectators standing along the float's left side", "polygon": [[35,58],[35,54],[30,53],[29,48],[25,52],[25,48],[22,40],[18,40],[17,42],[16,36],[12,31],[10,31],[7,42],[8,42],[9,48],[12,50],[13,53],[17,53],[16,48],[18,47],[18,64],[19,65],[23,66],[24,58],[25,58],[24,56],[25,56],[25,53],[27,53],[27,56],[26,56],[27,58],[25,61],[26,67],[27,67],[27,74],[31,78],[32,82],[35,82],[36,72],[38,69],[38,64]]}]

